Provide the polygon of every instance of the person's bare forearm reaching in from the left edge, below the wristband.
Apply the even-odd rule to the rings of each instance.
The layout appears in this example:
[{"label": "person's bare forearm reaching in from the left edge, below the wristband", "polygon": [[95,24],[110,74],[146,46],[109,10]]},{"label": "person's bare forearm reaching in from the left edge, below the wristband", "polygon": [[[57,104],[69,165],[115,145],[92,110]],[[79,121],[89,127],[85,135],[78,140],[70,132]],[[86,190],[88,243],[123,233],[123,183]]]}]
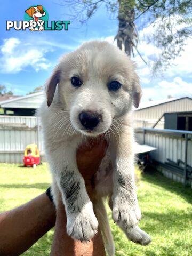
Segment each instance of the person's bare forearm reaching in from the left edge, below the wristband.
[{"label": "person's bare forearm reaching in from the left edge, below the wristband", "polygon": [[20,255],[54,224],[54,205],[45,193],[0,214],[0,255]]}]

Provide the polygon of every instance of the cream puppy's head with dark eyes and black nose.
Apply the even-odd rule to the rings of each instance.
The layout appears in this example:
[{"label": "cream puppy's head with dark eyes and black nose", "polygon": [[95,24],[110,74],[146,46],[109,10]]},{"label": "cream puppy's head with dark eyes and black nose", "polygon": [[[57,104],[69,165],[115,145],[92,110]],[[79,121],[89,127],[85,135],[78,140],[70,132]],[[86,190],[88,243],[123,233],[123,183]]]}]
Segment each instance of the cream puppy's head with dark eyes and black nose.
[{"label": "cream puppy's head with dark eyes and black nose", "polygon": [[137,108],[141,97],[132,61],[107,42],[84,43],[61,58],[47,83],[48,106],[57,84],[59,103],[67,109],[71,124],[91,136],[106,132],[132,103]]}]

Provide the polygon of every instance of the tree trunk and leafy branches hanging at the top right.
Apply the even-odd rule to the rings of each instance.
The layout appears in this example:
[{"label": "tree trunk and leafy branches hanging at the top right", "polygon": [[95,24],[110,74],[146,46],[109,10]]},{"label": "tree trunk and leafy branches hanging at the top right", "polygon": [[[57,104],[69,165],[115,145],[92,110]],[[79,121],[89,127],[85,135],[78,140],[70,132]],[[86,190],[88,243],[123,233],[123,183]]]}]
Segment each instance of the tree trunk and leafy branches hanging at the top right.
[{"label": "tree trunk and leafy branches hanging at the top right", "polygon": [[[191,36],[191,0],[60,0],[60,4],[67,6],[73,13],[71,19],[81,24],[89,21],[105,4],[109,17],[118,18],[117,45],[120,49],[124,46],[128,55],[134,55],[134,49],[137,50],[136,26],[139,23],[142,28],[154,26],[148,42],[161,50],[154,62],[154,73],[166,69],[183,51],[186,39]],[[129,35],[130,31],[132,35]]]}]

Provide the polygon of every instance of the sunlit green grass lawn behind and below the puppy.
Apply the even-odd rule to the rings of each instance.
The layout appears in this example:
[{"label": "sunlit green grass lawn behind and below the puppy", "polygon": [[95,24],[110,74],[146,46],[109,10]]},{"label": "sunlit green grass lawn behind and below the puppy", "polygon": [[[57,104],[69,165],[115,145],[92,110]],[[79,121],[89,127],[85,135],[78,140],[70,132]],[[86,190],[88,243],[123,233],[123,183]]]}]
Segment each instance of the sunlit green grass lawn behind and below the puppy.
[{"label": "sunlit green grass lawn behind and below the puppy", "polygon": [[[13,209],[49,187],[47,165],[37,169],[16,164],[0,164],[0,212]],[[117,256],[191,256],[192,255],[192,190],[164,178],[159,173],[145,173],[138,183],[138,199],[142,211],[140,227],[153,242],[142,247],[127,241],[110,218]],[[109,217],[111,217],[110,211]],[[26,256],[49,255],[53,230],[32,246]]]}]

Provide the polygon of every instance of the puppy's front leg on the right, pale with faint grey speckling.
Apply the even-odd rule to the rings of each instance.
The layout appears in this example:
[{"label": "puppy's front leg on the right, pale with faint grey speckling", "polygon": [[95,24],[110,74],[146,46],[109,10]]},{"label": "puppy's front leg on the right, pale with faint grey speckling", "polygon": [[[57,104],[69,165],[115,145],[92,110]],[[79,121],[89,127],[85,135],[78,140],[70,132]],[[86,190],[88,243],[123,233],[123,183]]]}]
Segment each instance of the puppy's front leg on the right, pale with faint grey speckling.
[{"label": "puppy's front leg on the right, pale with faint grey speckling", "polygon": [[113,161],[113,219],[127,231],[141,219],[134,182],[133,130],[126,126],[124,133],[114,140]]}]

